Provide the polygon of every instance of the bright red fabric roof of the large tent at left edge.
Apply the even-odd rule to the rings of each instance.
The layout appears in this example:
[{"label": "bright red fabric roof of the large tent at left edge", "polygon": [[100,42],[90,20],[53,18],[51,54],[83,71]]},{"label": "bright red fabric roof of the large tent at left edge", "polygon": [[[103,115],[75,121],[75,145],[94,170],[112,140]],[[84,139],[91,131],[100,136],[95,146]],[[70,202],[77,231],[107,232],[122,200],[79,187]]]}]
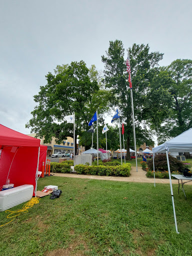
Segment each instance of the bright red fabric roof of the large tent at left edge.
[{"label": "bright red fabric roof of the large tent at left edge", "polygon": [[0,124],[0,145],[39,146],[40,139],[22,134]]}]

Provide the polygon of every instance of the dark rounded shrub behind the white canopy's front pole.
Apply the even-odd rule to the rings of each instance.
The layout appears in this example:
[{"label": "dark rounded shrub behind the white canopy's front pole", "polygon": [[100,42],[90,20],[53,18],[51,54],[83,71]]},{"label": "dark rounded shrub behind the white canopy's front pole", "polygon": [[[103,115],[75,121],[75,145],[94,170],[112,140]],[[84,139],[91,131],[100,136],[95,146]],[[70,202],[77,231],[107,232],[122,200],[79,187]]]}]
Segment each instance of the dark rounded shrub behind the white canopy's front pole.
[{"label": "dark rounded shrub behind the white canopy's front pole", "polygon": [[[170,165],[170,171],[181,171],[184,169],[184,164],[177,160],[175,157],[168,155],[169,159],[169,165]],[[150,170],[153,170],[153,162],[152,159],[147,161],[148,168]],[[154,157],[154,170],[162,170],[162,171],[167,171],[168,166],[167,166],[167,161],[166,161],[166,154],[157,154]]]}]

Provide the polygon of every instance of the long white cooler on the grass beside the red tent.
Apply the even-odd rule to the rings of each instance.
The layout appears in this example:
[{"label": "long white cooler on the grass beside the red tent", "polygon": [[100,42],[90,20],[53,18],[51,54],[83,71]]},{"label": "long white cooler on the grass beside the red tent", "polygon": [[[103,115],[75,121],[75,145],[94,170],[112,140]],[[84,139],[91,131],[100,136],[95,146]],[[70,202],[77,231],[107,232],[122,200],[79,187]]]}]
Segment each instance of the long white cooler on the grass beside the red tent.
[{"label": "long white cooler on the grass beside the red tent", "polygon": [[33,185],[21,185],[0,191],[0,211],[30,200],[33,189]]}]

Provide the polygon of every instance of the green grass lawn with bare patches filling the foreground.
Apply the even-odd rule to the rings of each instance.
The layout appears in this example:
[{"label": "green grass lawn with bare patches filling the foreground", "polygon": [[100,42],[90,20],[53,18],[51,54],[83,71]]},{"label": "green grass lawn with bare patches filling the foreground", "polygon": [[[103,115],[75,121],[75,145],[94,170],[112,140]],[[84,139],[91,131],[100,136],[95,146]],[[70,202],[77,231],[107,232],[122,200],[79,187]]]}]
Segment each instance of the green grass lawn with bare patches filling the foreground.
[{"label": "green grass lawn with bare patches filling the foreground", "polygon": [[59,198],[42,197],[0,227],[1,256],[191,255],[192,186],[185,185],[185,200],[173,184],[177,234],[169,184],[50,176],[38,189],[50,184],[62,190]]}]

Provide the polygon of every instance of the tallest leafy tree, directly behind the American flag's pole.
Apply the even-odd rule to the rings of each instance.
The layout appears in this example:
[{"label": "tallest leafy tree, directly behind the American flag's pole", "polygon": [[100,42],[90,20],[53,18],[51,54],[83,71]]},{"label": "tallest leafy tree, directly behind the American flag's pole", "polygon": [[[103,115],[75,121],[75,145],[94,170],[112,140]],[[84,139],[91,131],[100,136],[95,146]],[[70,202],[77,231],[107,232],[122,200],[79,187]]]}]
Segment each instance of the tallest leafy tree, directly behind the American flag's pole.
[{"label": "tallest leafy tree, directly behind the American flag's pole", "polygon": [[[143,118],[143,109],[147,103],[147,93],[150,81],[152,80],[158,61],[163,54],[159,52],[149,52],[149,46],[133,44],[129,48],[132,93],[135,118],[135,132],[137,145],[146,142],[152,144],[152,134],[148,131],[147,120]],[[104,63],[104,79],[106,87],[110,88],[112,100],[111,107],[119,108],[121,120],[125,122],[125,134],[127,158],[129,158],[129,147],[133,145],[132,136],[132,112],[130,101],[130,89],[127,81],[128,75],[124,60],[124,48],[122,41],[115,40],[109,42],[106,56],[102,55]]]}]

